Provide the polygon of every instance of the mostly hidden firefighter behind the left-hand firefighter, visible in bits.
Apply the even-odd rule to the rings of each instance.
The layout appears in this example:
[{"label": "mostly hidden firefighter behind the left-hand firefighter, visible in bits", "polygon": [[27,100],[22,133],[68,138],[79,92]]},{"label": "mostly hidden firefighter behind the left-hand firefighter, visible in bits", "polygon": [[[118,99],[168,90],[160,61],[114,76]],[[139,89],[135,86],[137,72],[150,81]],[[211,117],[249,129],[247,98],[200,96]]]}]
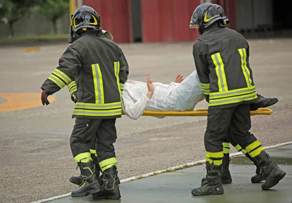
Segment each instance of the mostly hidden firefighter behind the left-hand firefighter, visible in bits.
[{"label": "mostly hidden firefighter behind the left-hand firefighter, visible in bits", "polygon": [[[110,40],[113,39],[112,35],[108,31],[104,31],[103,30],[103,34],[104,34],[105,38],[108,38]],[[122,55],[122,57],[124,57],[124,54]],[[128,68],[128,64],[127,64],[126,58],[123,58],[123,61],[126,63],[126,67]],[[76,86],[75,81],[72,81],[67,86],[68,86],[68,90],[69,90],[69,93],[70,93],[71,100],[74,103],[76,103],[76,101],[77,101],[77,86]],[[123,92],[123,87],[121,87],[121,91]],[[93,165],[95,167],[95,174],[96,174],[97,180],[98,180],[98,182],[100,184],[102,184],[103,183],[103,175],[101,175],[101,173],[100,173],[101,169],[100,169],[100,166],[99,166],[99,163],[98,163],[97,154],[96,154],[96,150],[95,150],[95,136],[93,136],[93,138],[91,140],[90,152],[91,152],[91,158],[92,158],[92,161],[93,161]],[[120,182],[120,179],[119,179],[118,175],[116,176],[116,179],[117,179],[117,184],[120,185],[121,182]],[[69,181],[71,183],[79,186],[83,182],[82,174],[79,175],[79,176],[72,176],[69,179]]]}]

